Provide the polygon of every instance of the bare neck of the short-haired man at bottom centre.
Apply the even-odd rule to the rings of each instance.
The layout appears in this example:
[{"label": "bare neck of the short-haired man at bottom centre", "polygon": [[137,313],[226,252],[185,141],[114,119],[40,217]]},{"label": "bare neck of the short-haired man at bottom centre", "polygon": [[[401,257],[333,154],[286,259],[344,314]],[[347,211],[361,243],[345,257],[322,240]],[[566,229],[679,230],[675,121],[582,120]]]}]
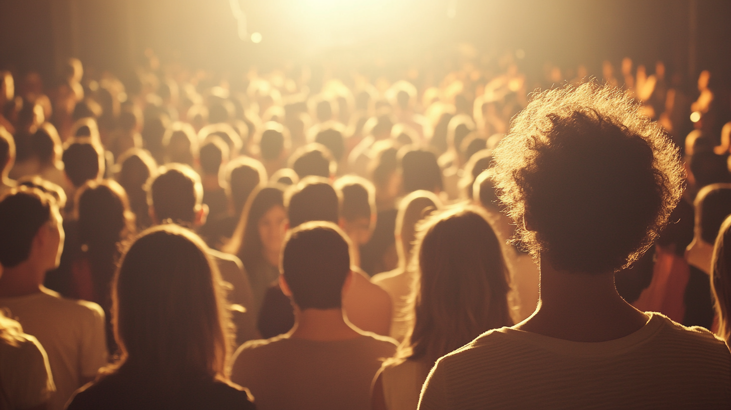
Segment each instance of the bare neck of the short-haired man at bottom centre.
[{"label": "bare neck of the short-haired man at bottom centre", "polygon": [[295,306],[295,327],[289,333],[293,339],[348,340],[360,337],[341,307],[334,309],[305,309]]}]

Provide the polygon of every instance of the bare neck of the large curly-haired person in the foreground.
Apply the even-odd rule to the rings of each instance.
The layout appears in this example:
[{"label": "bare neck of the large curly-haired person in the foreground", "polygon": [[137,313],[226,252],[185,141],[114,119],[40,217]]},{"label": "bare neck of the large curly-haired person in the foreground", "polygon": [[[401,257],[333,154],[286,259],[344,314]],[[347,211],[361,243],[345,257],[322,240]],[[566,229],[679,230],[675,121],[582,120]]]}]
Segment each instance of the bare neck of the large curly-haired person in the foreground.
[{"label": "bare neck of the large curly-haired person in the foreground", "polygon": [[533,315],[517,329],[577,342],[623,338],[648,317],[617,293],[614,273],[566,272],[541,258],[540,297]]}]

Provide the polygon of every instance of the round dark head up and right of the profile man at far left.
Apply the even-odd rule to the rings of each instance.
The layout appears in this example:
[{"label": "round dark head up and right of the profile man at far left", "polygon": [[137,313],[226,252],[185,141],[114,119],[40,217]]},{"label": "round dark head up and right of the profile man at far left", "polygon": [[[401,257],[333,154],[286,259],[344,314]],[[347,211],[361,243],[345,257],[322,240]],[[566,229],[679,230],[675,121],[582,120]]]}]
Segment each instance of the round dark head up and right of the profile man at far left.
[{"label": "round dark head up and right of the profile man at far left", "polygon": [[61,160],[67,178],[77,188],[104,174],[102,147],[89,138],[75,138],[67,143]]}]

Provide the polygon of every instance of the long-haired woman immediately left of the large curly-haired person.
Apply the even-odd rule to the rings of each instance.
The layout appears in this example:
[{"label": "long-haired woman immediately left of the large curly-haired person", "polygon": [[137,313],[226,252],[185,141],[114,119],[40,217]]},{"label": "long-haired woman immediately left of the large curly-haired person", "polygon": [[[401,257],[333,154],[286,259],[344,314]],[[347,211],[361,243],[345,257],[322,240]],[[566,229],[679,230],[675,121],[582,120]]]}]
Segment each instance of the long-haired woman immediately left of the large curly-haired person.
[{"label": "long-haired woman immediately left of the large curly-haired person", "polygon": [[409,295],[413,327],[374,383],[374,409],[416,409],[439,357],[490,329],[512,326],[509,273],[483,213],[457,207],[419,228],[414,245],[419,280]]}]

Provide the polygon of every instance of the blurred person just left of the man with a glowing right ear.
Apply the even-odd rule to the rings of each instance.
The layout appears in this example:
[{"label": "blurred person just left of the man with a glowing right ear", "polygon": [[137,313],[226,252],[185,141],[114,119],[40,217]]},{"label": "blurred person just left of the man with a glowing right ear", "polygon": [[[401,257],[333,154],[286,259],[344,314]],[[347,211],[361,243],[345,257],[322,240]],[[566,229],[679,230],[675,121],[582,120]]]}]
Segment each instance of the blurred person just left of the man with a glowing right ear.
[{"label": "blurred person just left of the man with a glowing right ear", "polygon": [[116,180],[127,193],[129,208],[135,212],[137,231],[143,231],[152,225],[145,184],[157,175],[157,164],[147,151],[133,148],[119,157],[118,165]]}]

